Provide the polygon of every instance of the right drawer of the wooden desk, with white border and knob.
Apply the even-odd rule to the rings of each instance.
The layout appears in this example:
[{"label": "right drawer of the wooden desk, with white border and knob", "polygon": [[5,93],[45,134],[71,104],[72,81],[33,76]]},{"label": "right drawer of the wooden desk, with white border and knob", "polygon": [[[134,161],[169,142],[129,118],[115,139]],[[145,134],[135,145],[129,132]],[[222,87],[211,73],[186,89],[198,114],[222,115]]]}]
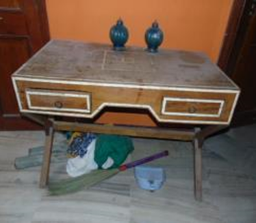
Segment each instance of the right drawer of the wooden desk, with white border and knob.
[{"label": "right drawer of the wooden desk, with white border and knob", "polygon": [[224,100],[164,97],[162,101],[162,115],[220,117],[223,104]]}]

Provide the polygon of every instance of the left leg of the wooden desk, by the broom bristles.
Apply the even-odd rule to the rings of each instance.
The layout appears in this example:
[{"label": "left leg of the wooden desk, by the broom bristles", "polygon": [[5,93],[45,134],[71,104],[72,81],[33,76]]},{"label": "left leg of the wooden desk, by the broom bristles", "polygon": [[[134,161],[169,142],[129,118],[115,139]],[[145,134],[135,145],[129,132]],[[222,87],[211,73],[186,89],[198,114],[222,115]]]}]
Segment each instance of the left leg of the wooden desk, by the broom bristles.
[{"label": "left leg of the wooden desk, by the broom bristles", "polygon": [[53,125],[51,121],[46,123],[45,129],[45,145],[44,145],[44,157],[42,160],[42,169],[40,175],[40,188],[44,188],[49,179],[49,169],[50,169],[50,162],[51,162],[51,149],[53,147]]}]

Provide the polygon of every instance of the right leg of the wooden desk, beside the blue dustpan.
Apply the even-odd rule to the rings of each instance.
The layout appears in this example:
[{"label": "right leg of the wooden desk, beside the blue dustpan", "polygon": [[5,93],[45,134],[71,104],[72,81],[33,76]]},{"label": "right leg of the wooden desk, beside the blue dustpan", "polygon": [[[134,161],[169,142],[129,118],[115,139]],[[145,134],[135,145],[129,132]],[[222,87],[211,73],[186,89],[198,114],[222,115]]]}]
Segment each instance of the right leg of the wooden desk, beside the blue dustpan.
[{"label": "right leg of the wooden desk, beside the blue dustpan", "polygon": [[[196,132],[199,130],[196,130]],[[194,138],[194,196],[201,201],[203,196],[202,187],[202,142]]]}]

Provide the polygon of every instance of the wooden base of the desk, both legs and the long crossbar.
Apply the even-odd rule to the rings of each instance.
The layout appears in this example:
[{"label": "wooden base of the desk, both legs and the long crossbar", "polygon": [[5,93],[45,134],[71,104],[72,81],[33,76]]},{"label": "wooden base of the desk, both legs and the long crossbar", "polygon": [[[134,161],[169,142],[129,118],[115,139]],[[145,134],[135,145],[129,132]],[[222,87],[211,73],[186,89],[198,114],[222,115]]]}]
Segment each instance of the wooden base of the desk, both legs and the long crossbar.
[{"label": "wooden base of the desk, both legs and the long crossbar", "polygon": [[194,129],[170,129],[170,128],[146,128],[123,125],[103,125],[92,123],[78,123],[67,121],[56,121],[41,117],[40,115],[27,115],[25,117],[36,121],[45,128],[45,148],[40,175],[40,188],[44,188],[49,180],[49,169],[51,162],[51,151],[53,145],[54,131],[71,132],[94,132],[100,134],[118,134],[125,136],[162,138],[169,140],[191,141],[194,145],[194,196],[196,200],[202,200],[202,147],[203,140],[224,128],[227,125],[209,125],[205,128]]}]

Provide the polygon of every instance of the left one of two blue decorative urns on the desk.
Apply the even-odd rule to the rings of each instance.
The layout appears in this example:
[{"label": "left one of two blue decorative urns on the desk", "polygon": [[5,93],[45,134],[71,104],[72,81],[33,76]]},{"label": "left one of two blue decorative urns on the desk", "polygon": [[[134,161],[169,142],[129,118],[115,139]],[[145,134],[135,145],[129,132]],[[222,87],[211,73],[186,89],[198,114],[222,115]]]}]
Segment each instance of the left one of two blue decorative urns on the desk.
[{"label": "left one of two blue decorative urns on the desk", "polygon": [[125,43],[129,38],[127,27],[123,25],[123,20],[117,20],[116,25],[110,29],[110,40],[113,43],[114,50],[125,50]]}]

